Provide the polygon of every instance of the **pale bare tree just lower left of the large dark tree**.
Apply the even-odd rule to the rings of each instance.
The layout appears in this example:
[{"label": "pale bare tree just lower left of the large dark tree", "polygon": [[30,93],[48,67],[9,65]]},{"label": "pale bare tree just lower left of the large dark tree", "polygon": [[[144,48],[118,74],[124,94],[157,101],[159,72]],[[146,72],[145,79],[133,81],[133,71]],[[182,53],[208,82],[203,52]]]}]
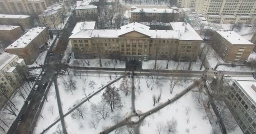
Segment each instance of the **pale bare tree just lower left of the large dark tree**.
[{"label": "pale bare tree just lower left of the large dark tree", "polygon": [[109,112],[106,103],[99,102],[98,104],[91,104],[91,111],[95,113],[96,116],[101,116],[102,119],[106,119]]}]

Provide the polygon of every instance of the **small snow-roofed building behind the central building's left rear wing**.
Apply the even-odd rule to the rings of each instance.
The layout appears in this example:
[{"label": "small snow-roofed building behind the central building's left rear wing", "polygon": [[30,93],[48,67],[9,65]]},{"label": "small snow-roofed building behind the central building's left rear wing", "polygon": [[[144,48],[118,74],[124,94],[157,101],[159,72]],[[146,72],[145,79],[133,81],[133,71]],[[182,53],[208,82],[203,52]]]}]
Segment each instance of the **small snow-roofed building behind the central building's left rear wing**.
[{"label": "small snow-roofed building behind the central building's left rear wing", "polygon": [[98,20],[98,7],[88,5],[87,1],[82,2],[74,10],[77,21],[96,21]]}]

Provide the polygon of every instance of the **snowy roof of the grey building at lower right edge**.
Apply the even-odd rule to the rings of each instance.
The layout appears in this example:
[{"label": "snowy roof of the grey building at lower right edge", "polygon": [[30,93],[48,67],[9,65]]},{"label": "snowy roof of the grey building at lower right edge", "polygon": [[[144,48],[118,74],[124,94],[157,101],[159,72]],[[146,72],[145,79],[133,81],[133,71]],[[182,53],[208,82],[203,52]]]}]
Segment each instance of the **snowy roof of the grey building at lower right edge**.
[{"label": "snowy roof of the grey building at lower right edge", "polygon": [[256,80],[253,77],[237,77],[235,83],[244,92],[246,97],[256,104],[256,90],[252,88],[252,85],[256,86]]}]

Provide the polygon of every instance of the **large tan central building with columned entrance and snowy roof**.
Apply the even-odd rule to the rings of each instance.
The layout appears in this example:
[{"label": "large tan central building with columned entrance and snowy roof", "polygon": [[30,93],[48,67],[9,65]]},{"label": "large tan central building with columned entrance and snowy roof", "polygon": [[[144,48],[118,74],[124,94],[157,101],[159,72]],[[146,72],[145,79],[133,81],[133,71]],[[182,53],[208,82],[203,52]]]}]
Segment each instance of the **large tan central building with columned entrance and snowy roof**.
[{"label": "large tan central building with columned entrance and snowy roof", "polygon": [[150,30],[140,23],[130,23],[117,30],[77,28],[69,37],[77,58],[110,58],[120,54],[122,59],[176,59],[196,61],[202,39],[183,22],[171,23],[172,30]]}]

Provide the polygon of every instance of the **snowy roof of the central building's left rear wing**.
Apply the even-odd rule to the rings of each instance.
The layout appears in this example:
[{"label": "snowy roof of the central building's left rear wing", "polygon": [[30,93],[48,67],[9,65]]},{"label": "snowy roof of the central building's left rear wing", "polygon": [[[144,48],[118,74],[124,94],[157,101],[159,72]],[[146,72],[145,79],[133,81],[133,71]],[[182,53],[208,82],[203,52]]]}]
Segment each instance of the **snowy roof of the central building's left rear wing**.
[{"label": "snowy roof of the central building's left rear wing", "polygon": [[95,21],[78,22],[71,33],[77,33],[83,29],[91,30],[91,29],[94,29],[94,27],[95,27]]}]

